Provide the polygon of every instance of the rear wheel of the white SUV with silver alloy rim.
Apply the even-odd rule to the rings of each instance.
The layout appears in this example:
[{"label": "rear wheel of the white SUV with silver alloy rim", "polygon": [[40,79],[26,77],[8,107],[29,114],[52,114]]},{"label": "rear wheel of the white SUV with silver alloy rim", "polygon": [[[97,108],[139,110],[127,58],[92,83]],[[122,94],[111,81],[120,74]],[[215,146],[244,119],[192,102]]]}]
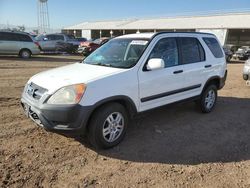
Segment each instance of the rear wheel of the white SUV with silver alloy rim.
[{"label": "rear wheel of the white SUV with silver alloy rim", "polygon": [[198,106],[203,113],[209,113],[213,110],[217,101],[217,87],[209,85],[201,94]]}]

